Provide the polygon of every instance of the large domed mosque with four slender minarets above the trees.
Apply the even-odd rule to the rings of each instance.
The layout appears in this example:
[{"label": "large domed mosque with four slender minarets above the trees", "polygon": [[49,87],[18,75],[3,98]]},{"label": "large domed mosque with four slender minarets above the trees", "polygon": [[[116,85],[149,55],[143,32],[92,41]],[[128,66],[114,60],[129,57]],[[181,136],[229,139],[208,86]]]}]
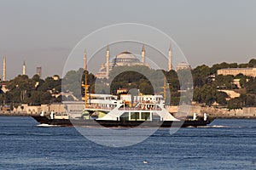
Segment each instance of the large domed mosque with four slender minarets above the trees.
[{"label": "large domed mosque with four slender minarets above the trees", "polygon": [[[148,68],[150,68],[150,65],[148,63],[146,63],[146,51],[145,51],[145,47],[143,45],[143,49],[142,49],[142,60],[137,59],[137,57],[132,54],[131,52],[128,51],[124,51],[120,54],[117,54],[112,61],[110,61],[110,50],[109,50],[109,46],[107,48],[107,54],[106,54],[106,63],[101,65],[100,71],[98,71],[96,73],[96,77],[97,78],[108,78],[109,76],[109,71],[111,71],[114,67],[116,66],[134,66],[134,65],[145,65],[148,66]],[[84,60],[86,58],[86,54],[84,54]],[[84,68],[86,69],[86,61],[84,61]],[[169,48],[169,71],[172,70],[172,48]]]}]

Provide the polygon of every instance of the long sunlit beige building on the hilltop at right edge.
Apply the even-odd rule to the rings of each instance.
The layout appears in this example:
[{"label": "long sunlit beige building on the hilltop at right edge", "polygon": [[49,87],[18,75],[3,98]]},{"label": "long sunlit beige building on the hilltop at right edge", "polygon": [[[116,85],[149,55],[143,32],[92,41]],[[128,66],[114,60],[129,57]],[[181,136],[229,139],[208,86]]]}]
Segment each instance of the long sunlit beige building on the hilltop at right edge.
[{"label": "long sunlit beige building on the hilltop at right edge", "polygon": [[233,75],[234,77],[238,74],[243,74],[247,77],[256,77],[256,68],[228,68],[220,69],[217,71],[218,75]]}]

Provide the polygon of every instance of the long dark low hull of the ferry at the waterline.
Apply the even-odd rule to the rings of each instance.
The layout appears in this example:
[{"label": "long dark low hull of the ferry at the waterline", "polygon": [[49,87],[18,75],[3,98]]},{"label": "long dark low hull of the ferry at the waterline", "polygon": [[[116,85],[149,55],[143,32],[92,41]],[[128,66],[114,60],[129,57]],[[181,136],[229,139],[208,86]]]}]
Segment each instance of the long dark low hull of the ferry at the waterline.
[{"label": "long dark low hull of the ferry at the waterline", "polygon": [[204,121],[201,117],[198,120],[185,121],[103,121],[83,119],[49,119],[48,116],[32,116],[41,124],[62,126],[62,127],[201,127],[207,126],[213,119]]}]

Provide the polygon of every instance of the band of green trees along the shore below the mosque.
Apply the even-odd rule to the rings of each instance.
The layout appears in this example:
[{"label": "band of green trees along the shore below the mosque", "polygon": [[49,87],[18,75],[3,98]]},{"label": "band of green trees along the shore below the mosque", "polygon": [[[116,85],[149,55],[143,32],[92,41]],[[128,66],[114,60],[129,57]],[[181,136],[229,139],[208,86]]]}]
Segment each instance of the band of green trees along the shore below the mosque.
[{"label": "band of green trees along the shore below the mosque", "polygon": [[[247,64],[220,63],[209,67],[199,65],[191,71],[193,84],[183,81],[181,86],[178,77],[189,80],[186,71],[163,71],[150,69],[147,66],[117,66],[110,71],[109,79],[96,79],[96,77],[86,71],[90,85],[88,93],[96,94],[116,94],[119,88],[137,88],[143,94],[163,94],[163,87],[166,83],[166,104],[178,105],[181,90],[193,91],[193,101],[202,105],[212,105],[215,102],[219,105],[227,106],[229,109],[256,106],[256,80],[255,77],[246,77],[242,74],[234,76],[217,75],[219,69],[255,67],[256,59],[251,59]],[[65,77],[55,80],[53,77],[41,79],[38,75],[32,78],[26,75],[19,75],[9,82],[5,82],[6,93],[0,91],[1,105],[42,105],[61,102],[65,96],[54,94],[61,92],[71,92],[77,99],[84,96],[84,70],[68,71]],[[166,77],[166,79],[165,79]],[[237,89],[233,80],[239,79],[241,89]],[[165,82],[166,80],[166,82]],[[183,89],[181,89],[183,88]],[[229,99],[229,96],[222,89],[235,90],[241,94],[240,97]],[[68,97],[68,100],[72,100]],[[190,102],[190,101],[188,101]]]}]

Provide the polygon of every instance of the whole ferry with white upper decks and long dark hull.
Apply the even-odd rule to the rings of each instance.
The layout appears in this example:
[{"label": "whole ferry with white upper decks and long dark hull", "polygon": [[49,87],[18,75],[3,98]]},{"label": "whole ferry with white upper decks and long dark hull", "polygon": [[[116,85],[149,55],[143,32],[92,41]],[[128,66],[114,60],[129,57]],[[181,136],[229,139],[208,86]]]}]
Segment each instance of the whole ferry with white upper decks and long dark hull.
[{"label": "whole ferry with white upper decks and long dark hull", "polygon": [[[79,118],[58,116],[33,116],[38,122],[59,126],[86,127],[197,127],[206,126],[212,120],[194,117],[179,120],[165,109],[161,95],[134,96],[133,105],[111,94],[89,94],[90,99]],[[61,117],[61,118],[60,118]]]}]

